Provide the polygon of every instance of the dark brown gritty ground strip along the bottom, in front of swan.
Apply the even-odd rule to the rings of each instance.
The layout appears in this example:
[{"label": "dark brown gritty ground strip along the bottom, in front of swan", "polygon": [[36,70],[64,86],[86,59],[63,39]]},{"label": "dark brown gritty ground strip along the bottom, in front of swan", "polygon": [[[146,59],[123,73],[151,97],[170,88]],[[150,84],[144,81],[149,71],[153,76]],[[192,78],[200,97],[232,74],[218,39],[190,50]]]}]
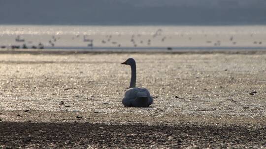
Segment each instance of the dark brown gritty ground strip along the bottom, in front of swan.
[{"label": "dark brown gritty ground strip along the bottom, in front of swan", "polygon": [[261,148],[265,126],[0,123],[2,148]]}]

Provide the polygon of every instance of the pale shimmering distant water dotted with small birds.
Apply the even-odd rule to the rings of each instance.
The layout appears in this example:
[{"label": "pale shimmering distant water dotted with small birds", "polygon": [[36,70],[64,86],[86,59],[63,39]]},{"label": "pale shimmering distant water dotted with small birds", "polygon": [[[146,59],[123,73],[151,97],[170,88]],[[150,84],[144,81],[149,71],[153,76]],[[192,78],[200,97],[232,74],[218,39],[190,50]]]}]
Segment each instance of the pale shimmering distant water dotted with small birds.
[{"label": "pale shimmering distant water dotted with small birds", "polygon": [[0,47],[64,50],[265,50],[266,25],[0,25]]}]

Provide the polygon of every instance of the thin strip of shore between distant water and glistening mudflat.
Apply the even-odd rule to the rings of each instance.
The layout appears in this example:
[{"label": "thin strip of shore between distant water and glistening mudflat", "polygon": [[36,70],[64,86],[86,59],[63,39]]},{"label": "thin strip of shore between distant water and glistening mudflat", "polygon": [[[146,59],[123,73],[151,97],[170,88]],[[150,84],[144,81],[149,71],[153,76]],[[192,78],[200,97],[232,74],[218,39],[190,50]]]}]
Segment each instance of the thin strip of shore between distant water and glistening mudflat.
[{"label": "thin strip of shore between distant water and glistening mudflat", "polygon": [[20,53],[29,53],[29,54],[83,54],[83,53],[145,53],[145,54],[207,54],[207,53],[227,53],[227,54],[256,54],[263,53],[266,54],[265,47],[259,47],[258,49],[180,49],[180,50],[156,50],[156,49],[0,49],[0,54],[20,54]]}]

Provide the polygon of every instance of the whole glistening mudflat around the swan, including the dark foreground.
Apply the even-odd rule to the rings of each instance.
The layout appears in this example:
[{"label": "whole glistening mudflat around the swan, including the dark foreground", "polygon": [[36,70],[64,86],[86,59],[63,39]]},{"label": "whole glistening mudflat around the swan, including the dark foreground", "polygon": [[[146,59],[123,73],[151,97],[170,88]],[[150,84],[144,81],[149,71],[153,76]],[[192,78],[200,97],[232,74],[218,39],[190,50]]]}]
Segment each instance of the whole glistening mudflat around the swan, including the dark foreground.
[{"label": "whole glistening mudflat around the swan, including the dark foreground", "polygon": [[[121,104],[128,57],[149,108]],[[266,148],[262,51],[1,53],[0,72],[2,148]]]}]

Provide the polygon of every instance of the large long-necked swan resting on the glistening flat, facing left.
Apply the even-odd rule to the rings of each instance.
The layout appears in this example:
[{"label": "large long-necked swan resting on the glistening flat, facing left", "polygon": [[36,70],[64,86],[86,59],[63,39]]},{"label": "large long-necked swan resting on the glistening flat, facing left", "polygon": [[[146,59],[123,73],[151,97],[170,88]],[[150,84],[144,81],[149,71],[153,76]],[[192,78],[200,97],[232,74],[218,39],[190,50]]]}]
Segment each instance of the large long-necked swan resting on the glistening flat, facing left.
[{"label": "large long-necked swan resting on the glistening flat, facing left", "polygon": [[124,106],[133,107],[148,107],[152,104],[153,99],[149,91],[145,88],[136,88],[136,63],[133,58],[127,59],[125,65],[131,66],[131,81],[130,87],[125,93],[125,97],[122,100]]}]

